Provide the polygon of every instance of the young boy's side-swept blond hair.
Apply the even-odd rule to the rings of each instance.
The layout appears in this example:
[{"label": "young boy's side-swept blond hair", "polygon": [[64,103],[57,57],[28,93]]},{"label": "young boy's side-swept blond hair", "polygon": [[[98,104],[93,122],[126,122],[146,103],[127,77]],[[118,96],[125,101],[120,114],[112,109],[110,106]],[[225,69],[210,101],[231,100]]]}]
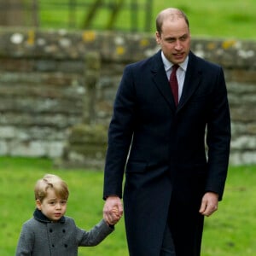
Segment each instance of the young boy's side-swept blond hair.
[{"label": "young boy's side-swept blond hair", "polygon": [[47,189],[54,189],[55,194],[60,196],[61,199],[67,200],[69,191],[67,189],[67,183],[65,183],[61,177],[54,174],[46,174],[43,178],[39,179],[35,185],[35,199],[43,201],[47,196]]}]

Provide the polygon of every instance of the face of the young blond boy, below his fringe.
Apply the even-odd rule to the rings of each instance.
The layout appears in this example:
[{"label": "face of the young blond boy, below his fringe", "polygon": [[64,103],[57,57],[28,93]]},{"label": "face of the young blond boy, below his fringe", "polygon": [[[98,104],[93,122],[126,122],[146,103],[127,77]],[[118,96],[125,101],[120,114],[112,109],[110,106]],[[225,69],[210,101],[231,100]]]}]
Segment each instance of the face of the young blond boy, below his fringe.
[{"label": "face of the young blond boy, below his fringe", "polygon": [[44,200],[36,202],[38,210],[52,221],[58,221],[67,210],[67,200],[56,196],[54,189],[47,189],[47,196]]}]

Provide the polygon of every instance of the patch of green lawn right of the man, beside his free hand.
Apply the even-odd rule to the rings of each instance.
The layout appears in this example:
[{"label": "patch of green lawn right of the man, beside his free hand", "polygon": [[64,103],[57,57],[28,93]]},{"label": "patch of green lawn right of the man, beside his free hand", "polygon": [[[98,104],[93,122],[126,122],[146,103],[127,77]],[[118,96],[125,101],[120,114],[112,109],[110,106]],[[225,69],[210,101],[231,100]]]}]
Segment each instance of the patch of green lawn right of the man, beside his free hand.
[{"label": "patch of green lawn right of the man, beside his free hand", "polygon": [[230,167],[224,201],[206,219],[203,256],[256,255],[256,166]]}]

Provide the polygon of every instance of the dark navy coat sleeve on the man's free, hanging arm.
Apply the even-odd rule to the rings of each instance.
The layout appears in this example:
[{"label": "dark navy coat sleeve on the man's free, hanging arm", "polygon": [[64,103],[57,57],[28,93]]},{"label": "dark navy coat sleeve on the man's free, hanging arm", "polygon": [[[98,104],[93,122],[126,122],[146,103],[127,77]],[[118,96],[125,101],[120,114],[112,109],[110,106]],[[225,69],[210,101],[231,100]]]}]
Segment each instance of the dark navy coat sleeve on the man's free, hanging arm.
[{"label": "dark navy coat sleeve on the man's free, hanging arm", "polygon": [[208,177],[207,191],[224,193],[230,155],[230,108],[222,68],[218,69],[212,111],[207,122]]}]

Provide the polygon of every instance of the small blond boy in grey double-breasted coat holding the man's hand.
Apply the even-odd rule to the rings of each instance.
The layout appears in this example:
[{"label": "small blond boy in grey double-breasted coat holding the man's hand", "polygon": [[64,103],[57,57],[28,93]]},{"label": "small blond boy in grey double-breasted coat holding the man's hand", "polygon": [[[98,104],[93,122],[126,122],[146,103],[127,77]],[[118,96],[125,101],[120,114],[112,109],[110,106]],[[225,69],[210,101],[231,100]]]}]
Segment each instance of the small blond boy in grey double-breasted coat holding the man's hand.
[{"label": "small blond boy in grey double-breasted coat holding the man's hand", "polygon": [[46,174],[36,183],[37,208],[33,218],[22,226],[16,256],[75,256],[78,247],[96,246],[113,232],[113,225],[121,218],[113,209],[116,218],[96,224],[90,231],[81,230],[73,218],[64,216],[67,210],[68,189],[61,177]]}]

